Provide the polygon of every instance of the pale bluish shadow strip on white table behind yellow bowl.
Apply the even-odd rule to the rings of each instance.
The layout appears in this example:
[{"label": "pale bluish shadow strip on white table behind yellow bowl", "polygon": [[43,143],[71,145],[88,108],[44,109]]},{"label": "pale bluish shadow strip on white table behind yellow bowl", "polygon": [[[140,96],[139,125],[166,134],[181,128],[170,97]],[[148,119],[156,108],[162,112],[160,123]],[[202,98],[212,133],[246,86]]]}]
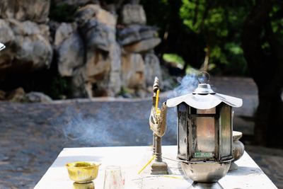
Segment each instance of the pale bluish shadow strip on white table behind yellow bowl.
[{"label": "pale bluish shadow strip on white table behind yellow bowl", "polygon": [[62,167],[67,163],[74,161],[97,161],[101,162],[102,156],[62,156],[58,157],[57,160],[52,164],[52,167]]}]

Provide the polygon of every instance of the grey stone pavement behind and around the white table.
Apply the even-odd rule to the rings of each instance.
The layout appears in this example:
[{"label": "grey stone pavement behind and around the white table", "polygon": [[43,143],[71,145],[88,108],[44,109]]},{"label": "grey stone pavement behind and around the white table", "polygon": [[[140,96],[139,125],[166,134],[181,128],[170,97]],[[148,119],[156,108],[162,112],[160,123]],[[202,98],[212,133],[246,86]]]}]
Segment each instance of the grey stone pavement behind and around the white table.
[{"label": "grey stone pavement behind and around the white table", "polygon": [[[234,130],[253,134],[253,122],[246,119],[258,103],[252,80],[214,78],[212,82],[217,92],[244,98],[246,105],[236,110]],[[33,188],[64,147],[151,145],[150,108],[149,98],[1,102],[0,188]],[[168,111],[163,144],[176,144],[173,109]],[[283,150],[246,149],[275,185],[283,188]]]}]

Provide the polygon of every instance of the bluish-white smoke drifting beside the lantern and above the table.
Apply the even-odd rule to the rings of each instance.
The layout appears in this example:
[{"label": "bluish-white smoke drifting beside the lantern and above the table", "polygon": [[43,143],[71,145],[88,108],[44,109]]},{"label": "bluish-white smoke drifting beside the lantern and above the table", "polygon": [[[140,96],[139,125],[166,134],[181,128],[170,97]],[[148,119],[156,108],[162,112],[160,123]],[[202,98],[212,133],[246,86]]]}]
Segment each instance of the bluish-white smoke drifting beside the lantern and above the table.
[{"label": "bluish-white smoke drifting beside the lantern and above the table", "polygon": [[[197,77],[187,75],[167,98],[191,93],[197,86]],[[161,104],[161,103],[160,103]],[[149,129],[151,99],[139,101],[92,102],[82,108],[70,106],[52,125],[66,138],[69,147],[151,145]],[[175,108],[168,108],[167,131],[163,144],[176,144]]]}]

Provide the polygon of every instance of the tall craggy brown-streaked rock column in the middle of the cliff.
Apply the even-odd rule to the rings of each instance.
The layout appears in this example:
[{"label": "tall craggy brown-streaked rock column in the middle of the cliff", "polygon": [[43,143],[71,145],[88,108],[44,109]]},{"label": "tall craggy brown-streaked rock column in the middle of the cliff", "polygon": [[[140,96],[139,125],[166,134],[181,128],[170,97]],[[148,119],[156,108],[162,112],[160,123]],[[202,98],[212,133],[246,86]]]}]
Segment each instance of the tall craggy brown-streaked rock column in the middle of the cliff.
[{"label": "tall craggy brown-streaked rock column in the middle of the cliff", "polygon": [[[121,86],[121,50],[115,38],[116,17],[98,5],[88,4],[76,13],[76,23],[84,43],[85,59],[76,71],[73,70],[74,96],[115,96]],[[64,35],[60,36],[64,38]],[[62,40],[55,41],[57,44]]]}]

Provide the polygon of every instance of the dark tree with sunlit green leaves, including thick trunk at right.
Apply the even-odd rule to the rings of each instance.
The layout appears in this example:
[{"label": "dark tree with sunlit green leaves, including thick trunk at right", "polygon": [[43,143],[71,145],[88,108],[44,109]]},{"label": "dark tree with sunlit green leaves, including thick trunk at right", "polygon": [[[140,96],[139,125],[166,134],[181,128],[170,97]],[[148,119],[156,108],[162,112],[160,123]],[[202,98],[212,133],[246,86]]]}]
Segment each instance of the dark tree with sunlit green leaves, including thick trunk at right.
[{"label": "dark tree with sunlit green leaves, including thick trunk at right", "polygon": [[141,3],[163,37],[157,52],[180,55],[184,69],[204,63],[214,73],[250,74],[259,98],[255,142],[283,147],[283,1],[149,1]]}]

